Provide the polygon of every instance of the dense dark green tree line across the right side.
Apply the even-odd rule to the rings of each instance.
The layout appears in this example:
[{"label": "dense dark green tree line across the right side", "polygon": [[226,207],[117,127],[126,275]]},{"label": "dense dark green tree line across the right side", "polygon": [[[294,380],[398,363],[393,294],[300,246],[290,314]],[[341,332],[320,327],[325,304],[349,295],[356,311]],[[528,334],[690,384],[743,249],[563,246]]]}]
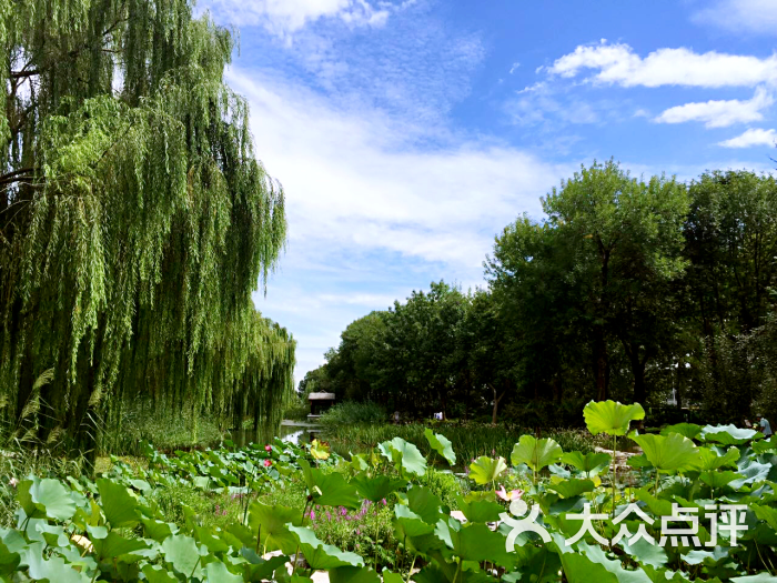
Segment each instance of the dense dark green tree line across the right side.
[{"label": "dense dark green tree line across the right side", "polygon": [[777,413],[777,184],[582,168],[496,238],[484,289],[444,282],[350,324],[301,390],[411,414],[579,420],[589,399]]}]

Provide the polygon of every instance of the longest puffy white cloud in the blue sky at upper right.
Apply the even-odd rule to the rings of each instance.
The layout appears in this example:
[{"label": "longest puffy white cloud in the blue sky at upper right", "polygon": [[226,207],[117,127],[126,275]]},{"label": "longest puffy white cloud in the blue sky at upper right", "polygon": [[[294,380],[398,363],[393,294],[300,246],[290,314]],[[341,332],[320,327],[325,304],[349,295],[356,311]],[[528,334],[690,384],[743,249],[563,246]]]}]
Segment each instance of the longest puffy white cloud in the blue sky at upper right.
[{"label": "longest puffy white cloud in the blue sky at upper right", "polygon": [[549,74],[573,78],[597,71],[591,81],[623,87],[755,87],[777,81],[777,56],[697,53],[690,49],[658,49],[642,58],[628,44],[579,46],[544,68]]}]

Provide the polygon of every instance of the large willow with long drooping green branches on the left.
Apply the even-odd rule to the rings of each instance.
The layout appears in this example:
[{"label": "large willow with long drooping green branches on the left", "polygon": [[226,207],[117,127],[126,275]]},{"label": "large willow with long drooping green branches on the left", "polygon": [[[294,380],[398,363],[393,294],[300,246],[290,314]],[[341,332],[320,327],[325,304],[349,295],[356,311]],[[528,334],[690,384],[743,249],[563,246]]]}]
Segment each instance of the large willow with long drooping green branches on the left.
[{"label": "large willow with long drooping green branches on the left", "polygon": [[190,0],[0,0],[0,421],[87,446],[149,395],[276,424],[294,341],[251,292],[284,195],[229,31]]}]

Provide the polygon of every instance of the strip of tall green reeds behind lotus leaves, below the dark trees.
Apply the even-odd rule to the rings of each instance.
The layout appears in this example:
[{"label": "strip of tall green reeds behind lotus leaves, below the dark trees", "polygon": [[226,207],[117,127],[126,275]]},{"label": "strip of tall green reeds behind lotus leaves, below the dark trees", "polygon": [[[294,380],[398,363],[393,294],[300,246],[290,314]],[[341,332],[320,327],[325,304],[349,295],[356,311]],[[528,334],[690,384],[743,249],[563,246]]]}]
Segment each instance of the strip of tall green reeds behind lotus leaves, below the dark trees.
[{"label": "strip of tall green reeds behind lotus leaves, below the dark trees", "polygon": [[[427,460],[437,460],[440,456],[430,448],[424,430],[427,425],[390,425],[390,424],[339,424],[327,425],[323,430],[324,439],[329,440],[334,451],[341,455],[349,453],[362,453],[370,451],[379,443],[394,438],[413,443]],[[513,445],[521,435],[531,433],[517,426],[486,425],[467,423],[462,425],[440,424],[433,428],[436,433],[442,433],[453,445],[453,451],[460,463],[468,463],[470,460],[481,455],[509,459]],[[553,438],[564,451],[579,451],[588,453],[594,451],[594,441],[587,431],[557,429],[544,432],[543,438]]]}]

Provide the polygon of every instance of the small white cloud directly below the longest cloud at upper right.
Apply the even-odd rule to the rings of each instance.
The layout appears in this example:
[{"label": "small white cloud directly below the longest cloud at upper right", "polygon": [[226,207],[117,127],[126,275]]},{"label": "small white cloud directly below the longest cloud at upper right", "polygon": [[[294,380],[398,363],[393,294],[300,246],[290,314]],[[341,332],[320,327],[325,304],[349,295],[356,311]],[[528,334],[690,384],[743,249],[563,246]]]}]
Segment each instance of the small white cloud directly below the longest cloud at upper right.
[{"label": "small white cloud directly below the longest cloud at upper right", "polygon": [[658,123],[702,121],[707,128],[726,128],[734,123],[748,123],[764,119],[763,110],[774,101],[768,91],[758,88],[753,99],[746,101],[730,99],[686,103],[665,110],[654,121]]}]

